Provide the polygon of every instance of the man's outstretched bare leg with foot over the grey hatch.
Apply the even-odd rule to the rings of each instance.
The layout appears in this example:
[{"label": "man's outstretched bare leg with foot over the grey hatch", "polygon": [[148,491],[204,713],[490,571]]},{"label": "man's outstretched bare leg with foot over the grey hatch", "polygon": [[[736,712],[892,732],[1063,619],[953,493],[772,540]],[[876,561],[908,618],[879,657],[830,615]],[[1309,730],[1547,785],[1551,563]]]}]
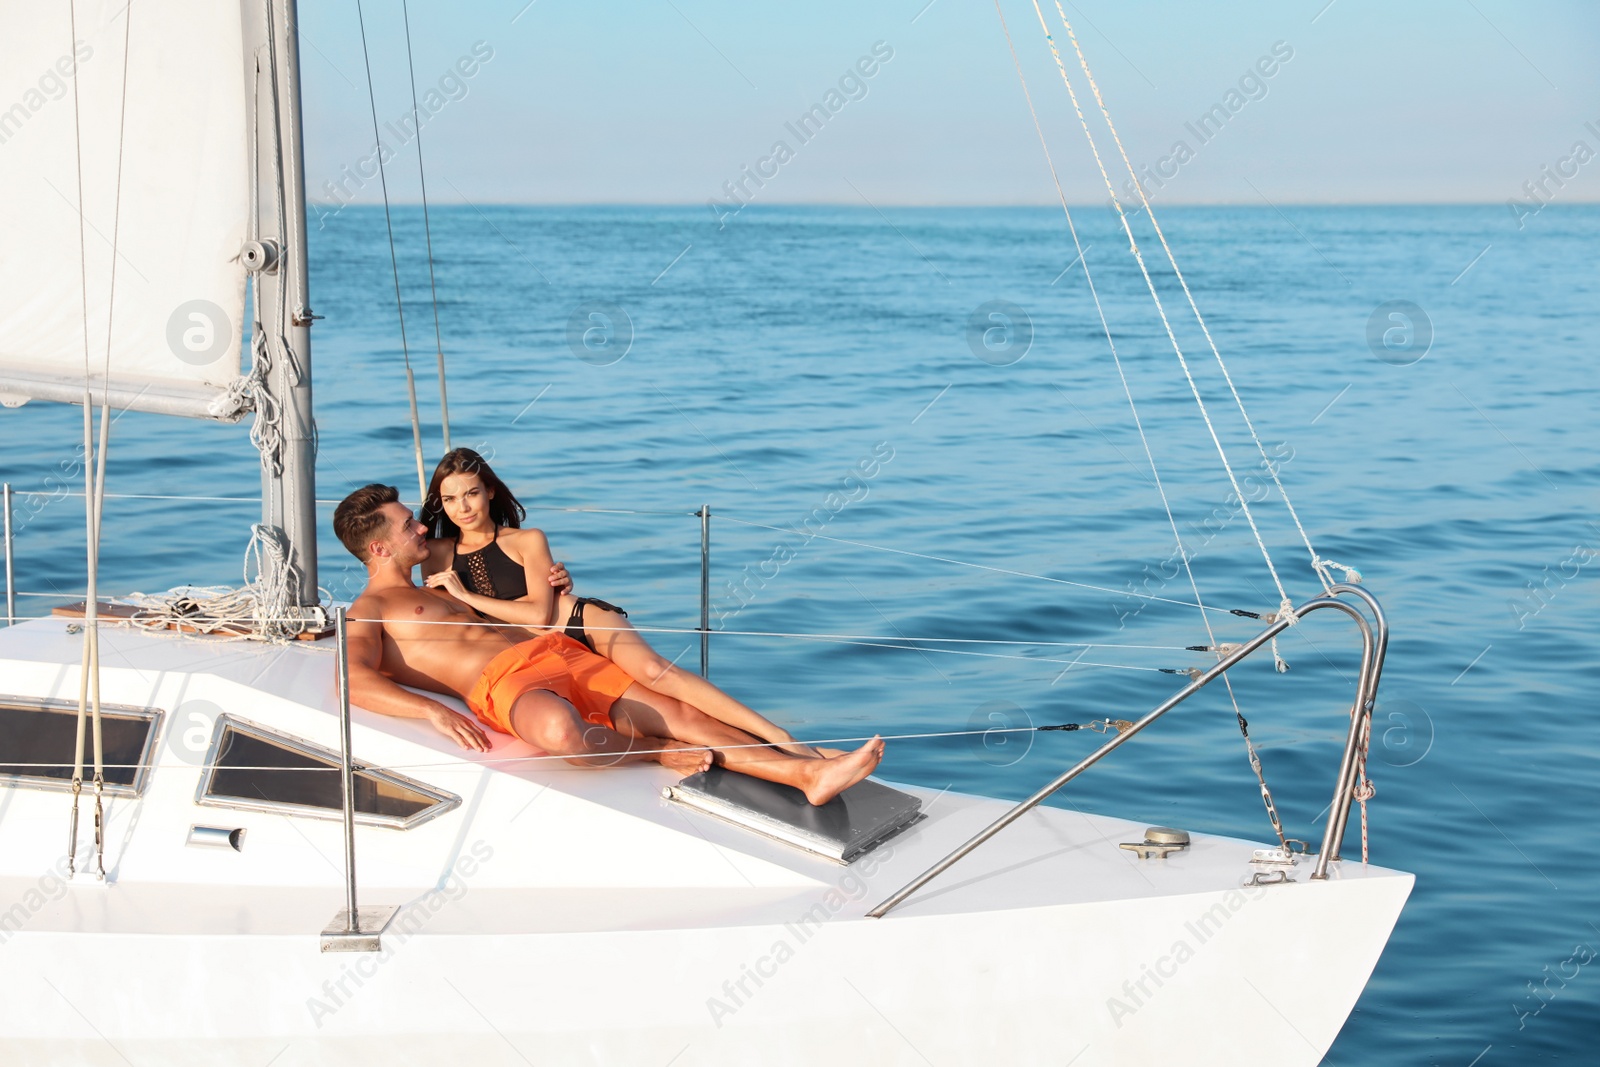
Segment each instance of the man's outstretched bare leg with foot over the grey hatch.
[{"label": "man's outstretched bare leg with foot over the grey hatch", "polygon": [[[802,790],[813,805],[826,805],[877,769],[883,742],[877,737],[854,752],[829,758],[794,757],[762,745],[757,737],[723,723],[683,701],[634,683],[611,705],[611,720],[624,733],[674,737],[712,749],[718,763],[770,782]],[[752,747],[754,745],[754,747]]]}]

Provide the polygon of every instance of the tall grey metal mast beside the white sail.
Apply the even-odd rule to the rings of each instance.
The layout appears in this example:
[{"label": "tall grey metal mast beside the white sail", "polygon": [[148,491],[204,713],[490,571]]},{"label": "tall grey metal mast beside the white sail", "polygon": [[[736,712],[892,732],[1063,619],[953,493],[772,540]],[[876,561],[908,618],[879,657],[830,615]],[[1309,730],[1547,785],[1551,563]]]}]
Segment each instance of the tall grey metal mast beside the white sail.
[{"label": "tall grey metal mast beside the white sail", "polygon": [[[317,435],[310,397],[306,158],[296,0],[240,0],[250,86],[251,219],[240,261],[254,301],[251,336],[261,450],[261,531],[283,549],[288,603],[317,605]],[[261,373],[264,370],[264,373]],[[275,566],[274,545],[261,553]],[[266,577],[266,576],[264,576]]]}]

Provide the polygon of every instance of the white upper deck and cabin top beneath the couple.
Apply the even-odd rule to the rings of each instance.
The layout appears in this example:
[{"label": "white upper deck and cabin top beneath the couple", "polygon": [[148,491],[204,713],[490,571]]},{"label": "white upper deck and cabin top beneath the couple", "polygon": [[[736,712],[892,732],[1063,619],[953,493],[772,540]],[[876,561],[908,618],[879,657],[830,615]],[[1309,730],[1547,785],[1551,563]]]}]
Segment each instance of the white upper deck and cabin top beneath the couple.
[{"label": "white upper deck and cabin top beneath the couple", "polygon": [[[75,697],[82,637],[67,627],[40,619],[0,633],[8,696]],[[178,742],[194,728],[192,715],[226,710],[333,747],[331,646],[109,627],[102,673],[107,702],[163,709],[157,768],[142,800],[109,803],[110,885],[51,894],[30,912],[29,929],[320,929],[342,902],[339,824],[197,806],[202,760]],[[466,752],[424,723],[362,710],[354,736],[358,760],[462,797],[456,809],[411,830],[357,830],[362,902],[432,904],[427,934],[770,925],[819,904],[829,918],[859,918],[1010,808],[994,798],[902,785],[922,798],[926,817],[843,867],[664,800],[662,787],[677,776],[656,765],[586,771],[525,760],[533,750],[510,737],[498,737],[488,753]],[[62,793],[5,790],[0,905],[37,891],[59,864],[67,809]],[[194,824],[246,829],[242,851],[184,848]],[[1166,859],[1139,859],[1118,848],[1142,837],[1142,824],[1042,806],[894,915],[1226,891],[1254,873],[1251,853],[1266,845],[1194,833],[1189,849]],[[1309,864],[1301,862],[1298,883],[1307,875]],[[1333,869],[1334,880],[1384,877],[1410,878],[1349,862]]]}]

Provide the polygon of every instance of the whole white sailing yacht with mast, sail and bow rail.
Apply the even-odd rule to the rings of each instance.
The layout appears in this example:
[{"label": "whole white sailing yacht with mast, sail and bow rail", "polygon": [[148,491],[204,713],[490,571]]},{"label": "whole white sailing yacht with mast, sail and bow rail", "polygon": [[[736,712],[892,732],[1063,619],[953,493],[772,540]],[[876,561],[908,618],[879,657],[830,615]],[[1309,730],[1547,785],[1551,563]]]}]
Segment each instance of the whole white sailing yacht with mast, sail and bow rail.
[{"label": "whole white sailing yacht with mast, sail and bow rail", "polygon": [[[90,474],[88,600],[0,632],[0,1059],[1318,1062],[1413,885],[1341,854],[1387,643],[1362,587],[1266,619],[1022,805],[869,781],[811,808],[349,707],[296,24],[0,8],[0,400],[250,418],[270,638],[101,605]],[[1315,853],[1042,803],[1323,609],[1362,673]]]}]

